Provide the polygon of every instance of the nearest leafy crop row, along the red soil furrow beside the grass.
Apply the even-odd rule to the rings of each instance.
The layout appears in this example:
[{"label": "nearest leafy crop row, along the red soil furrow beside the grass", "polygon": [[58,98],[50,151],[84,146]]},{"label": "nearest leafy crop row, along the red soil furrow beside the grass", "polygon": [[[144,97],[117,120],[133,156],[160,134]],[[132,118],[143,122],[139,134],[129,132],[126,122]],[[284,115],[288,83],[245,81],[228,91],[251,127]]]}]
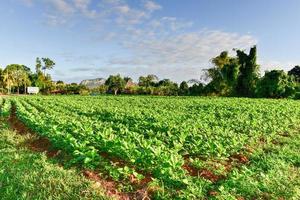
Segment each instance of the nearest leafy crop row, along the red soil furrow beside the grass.
[{"label": "nearest leafy crop row, along the red soil furrow beside the grass", "polygon": [[[181,169],[183,159],[176,152],[172,152],[156,140],[145,140],[136,133],[128,132],[119,127],[120,135],[110,124],[97,124],[91,126],[93,121],[88,118],[80,119],[74,116],[63,115],[54,109],[37,109],[31,104],[16,101],[18,117],[33,130],[48,137],[53,145],[72,153],[74,161],[97,163],[99,154],[107,152],[135,164],[139,170],[150,172],[154,177],[159,177],[165,182],[181,184],[185,171]],[[94,128],[94,129],[92,129]]]}]

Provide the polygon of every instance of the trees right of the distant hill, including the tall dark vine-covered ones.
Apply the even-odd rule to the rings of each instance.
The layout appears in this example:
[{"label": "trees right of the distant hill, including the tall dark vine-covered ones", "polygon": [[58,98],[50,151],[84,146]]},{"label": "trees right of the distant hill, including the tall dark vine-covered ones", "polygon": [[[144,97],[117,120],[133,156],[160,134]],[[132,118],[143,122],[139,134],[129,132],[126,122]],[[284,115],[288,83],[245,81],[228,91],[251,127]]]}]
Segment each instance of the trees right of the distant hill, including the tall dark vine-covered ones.
[{"label": "trees right of the distant hill, including the tall dark vine-covered ones", "polygon": [[[231,97],[300,98],[300,66],[288,73],[283,70],[266,71],[260,75],[257,48],[249,53],[227,51],[211,59],[212,67],[204,70],[206,83],[197,80],[183,81],[179,85],[169,79],[159,80],[155,75],[141,76],[138,84],[129,77],[111,75],[98,92],[144,95],[205,95]],[[96,89],[97,90],[97,89]]]}]

